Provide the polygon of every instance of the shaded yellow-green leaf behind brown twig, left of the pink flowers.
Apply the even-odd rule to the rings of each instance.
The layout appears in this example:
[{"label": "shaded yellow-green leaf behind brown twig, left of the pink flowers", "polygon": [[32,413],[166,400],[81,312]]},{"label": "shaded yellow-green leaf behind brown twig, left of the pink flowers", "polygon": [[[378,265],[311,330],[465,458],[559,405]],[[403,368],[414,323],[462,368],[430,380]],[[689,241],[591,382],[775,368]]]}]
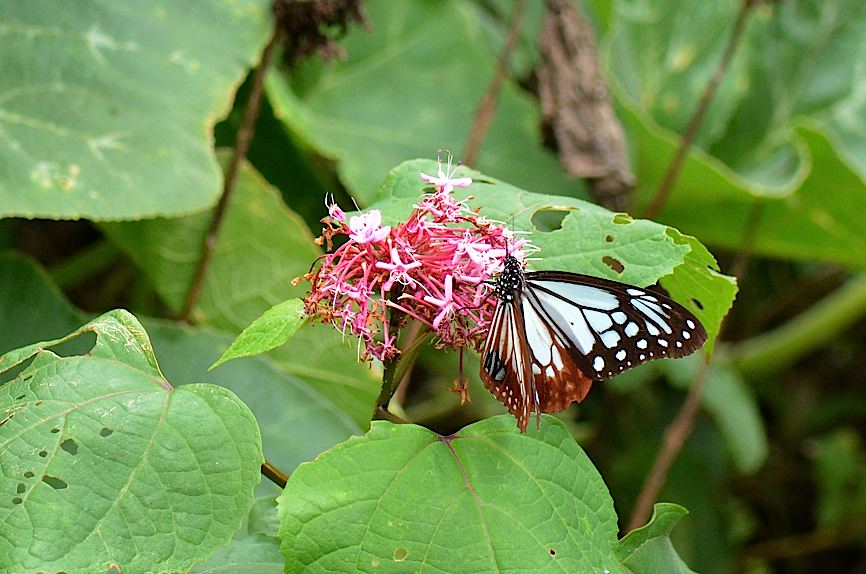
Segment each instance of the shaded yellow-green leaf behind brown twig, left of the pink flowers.
[{"label": "shaded yellow-green leaf behind brown twig, left of the pink flowers", "polygon": [[[237,185],[196,310],[202,322],[234,333],[274,304],[303,295],[307,286],[292,287],[292,279],[309,271],[320,254],[304,222],[248,165],[239,171]],[[177,310],[192,281],[210,218],[204,213],[102,227]],[[369,421],[378,388],[370,369],[358,363],[354,347],[343,344],[336,330],[301,329],[273,356],[358,424]]]}]

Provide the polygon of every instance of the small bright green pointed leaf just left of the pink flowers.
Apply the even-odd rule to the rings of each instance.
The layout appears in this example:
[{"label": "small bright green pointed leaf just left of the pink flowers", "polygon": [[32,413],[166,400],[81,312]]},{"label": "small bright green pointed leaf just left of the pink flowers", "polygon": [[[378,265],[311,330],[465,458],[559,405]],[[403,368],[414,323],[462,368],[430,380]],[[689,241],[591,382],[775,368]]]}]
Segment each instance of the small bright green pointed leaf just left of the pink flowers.
[{"label": "small bright green pointed leaf just left of the pink flowers", "polygon": [[238,338],[208,370],[231,359],[260,355],[279,347],[304,324],[306,319],[303,311],[304,302],[301,299],[289,299],[277,303],[253,321],[249,327],[241,331]]}]

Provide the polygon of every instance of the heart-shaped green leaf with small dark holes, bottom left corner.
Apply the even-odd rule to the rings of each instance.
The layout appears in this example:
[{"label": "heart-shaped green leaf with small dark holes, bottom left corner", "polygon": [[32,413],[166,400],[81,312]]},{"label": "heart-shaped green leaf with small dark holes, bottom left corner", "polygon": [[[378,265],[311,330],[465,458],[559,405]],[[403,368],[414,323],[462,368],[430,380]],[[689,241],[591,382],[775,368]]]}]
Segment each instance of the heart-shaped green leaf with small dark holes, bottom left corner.
[{"label": "heart-shaped green leaf with small dark holes, bottom left corner", "polygon": [[[85,333],[85,356],[49,349]],[[262,461],[255,419],[215,385],[173,388],[124,311],[0,357],[0,555],[18,572],[186,570],[226,544]],[[216,446],[215,446],[216,445]]]}]

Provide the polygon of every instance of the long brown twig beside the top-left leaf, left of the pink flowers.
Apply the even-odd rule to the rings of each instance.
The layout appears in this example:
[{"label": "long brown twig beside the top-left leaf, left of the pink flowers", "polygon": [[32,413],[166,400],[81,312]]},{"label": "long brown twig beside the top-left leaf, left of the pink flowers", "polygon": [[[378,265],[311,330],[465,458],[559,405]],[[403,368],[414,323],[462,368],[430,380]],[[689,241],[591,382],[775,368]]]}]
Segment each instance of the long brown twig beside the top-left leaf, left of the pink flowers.
[{"label": "long brown twig beside the top-left leaf, left of the pink flowers", "polygon": [[183,305],[183,310],[180,312],[179,319],[189,322],[192,316],[192,311],[201,297],[202,289],[204,288],[205,277],[210,266],[211,258],[213,257],[214,248],[216,247],[219,238],[220,227],[225,219],[226,210],[231,198],[234,195],[235,183],[237,182],[238,168],[241,162],[246,158],[247,151],[250,147],[250,142],[253,139],[253,134],[256,130],[256,120],[259,117],[259,109],[261,108],[262,92],[264,91],[265,75],[270,67],[271,59],[274,54],[274,47],[280,38],[280,30],[277,28],[271,35],[268,45],[265,46],[262,52],[262,60],[256,69],[253,76],[253,86],[250,91],[250,98],[247,102],[247,109],[244,112],[244,118],[241,126],[238,129],[237,140],[232,152],[231,160],[226,169],[225,181],[223,182],[223,192],[219,202],[214,209],[213,219],[210,227],[205,234],[204,242],[202,243],[201,256],[199,257],[198,266],[195,270],[195,275],[190,283],[189,291],[187,292],[186,301]]}]

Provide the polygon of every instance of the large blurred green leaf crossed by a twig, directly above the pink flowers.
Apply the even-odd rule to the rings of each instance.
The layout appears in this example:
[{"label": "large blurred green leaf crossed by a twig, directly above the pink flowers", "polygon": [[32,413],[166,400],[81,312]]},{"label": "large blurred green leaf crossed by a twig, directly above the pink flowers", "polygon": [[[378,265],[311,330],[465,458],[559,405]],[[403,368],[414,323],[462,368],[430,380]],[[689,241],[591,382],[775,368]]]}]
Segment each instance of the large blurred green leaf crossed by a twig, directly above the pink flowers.
[{"label": "large blurred green leaf crossed by a twig, directly above the pink flowers", "polygon": [[[274,72],[266,84],[275,116],[337,162],[362,204],[406,157],[432,157],[437,147],[461,156],[500,49],[486,42],[489,14],[473,3],[398,4],[364,4],[372,30],[349,31],[345,61],[307,62],[292,78]],[[536,102],[506,79],[475,165],[527,188],[569,193],[577,185],[543,148],[539,119]]]}]

